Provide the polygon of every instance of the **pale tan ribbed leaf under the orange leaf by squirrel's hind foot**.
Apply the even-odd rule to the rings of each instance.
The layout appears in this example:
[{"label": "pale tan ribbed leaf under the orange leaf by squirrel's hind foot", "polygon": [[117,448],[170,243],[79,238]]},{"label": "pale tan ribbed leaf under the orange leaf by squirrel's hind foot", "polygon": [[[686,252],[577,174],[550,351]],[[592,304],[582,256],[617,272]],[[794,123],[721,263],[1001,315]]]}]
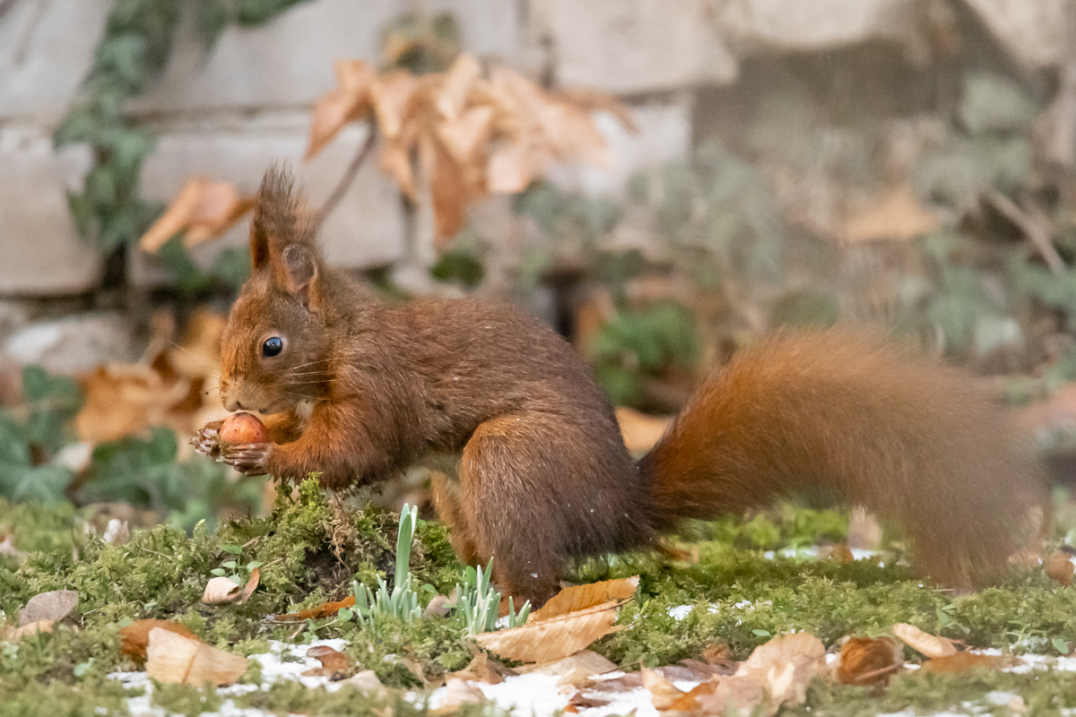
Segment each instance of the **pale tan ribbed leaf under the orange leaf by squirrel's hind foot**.
[{"label": "pale tan ribbed leaf under the orange leaf by squirrel's hind foot", "polygon": [[614,632],[617,602],[528,622],[519,628],[476,635],[479,645],[511,660],[552,662],[574,655],[592,642]]}]

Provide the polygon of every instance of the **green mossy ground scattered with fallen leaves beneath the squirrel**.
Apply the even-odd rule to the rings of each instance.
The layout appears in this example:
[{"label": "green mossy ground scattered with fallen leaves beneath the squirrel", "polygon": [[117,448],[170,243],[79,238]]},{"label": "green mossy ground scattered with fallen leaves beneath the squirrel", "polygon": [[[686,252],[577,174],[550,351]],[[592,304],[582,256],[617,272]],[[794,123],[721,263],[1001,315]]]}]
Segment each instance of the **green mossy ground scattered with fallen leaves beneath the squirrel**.
[{"label": "green mossy ground scattered with fallen leaves beneath the squirrel", "polygon": [[[22,560],[0,556],[0,608],[8,619],[46,590],[75,590],[80,598],[76,617],[54,633],[17,645],[0,643],[0,715],[44,714],[44,705],[54,705],[47,707],[51,715],[90,715],[98,707],[123,714],[123,698],[131,694],[125,696],[105,675],[138,669],[122,654],[118,630],[147,617],[178,620],[206,642],[243,655],[268,651],[269,640],[343,637],[354,662],[374,670],[391,687],[416,686],[416,668],[437,675],[462,669],[472,657],[472,646],[453,618],[387,621],[377,632],[326,618],[307,623],[297,635],[296,626],[265,619],[339,600],[355,577],[368,585],[379,574],[392,577],[397,516],[342,511],[326,502],[312,482],[300,487],[298,500],[279,500],[269,517],[227,522],[212,535],[202,527],[190,535],[167,526],[136,530],[119,546],[75,530],[74,511],[67,505],[0,502],[0,516],[18,546],[30,550]],[[886,633],[898,621],[971,646],[1016,653],[1058,655],[1076,645],[1076,591],[1051,583],[1040,570],[1016,571],[1001,586],[954,597],[894,564],[895,555],[884,556],[884,565],[764,557],[765,549],[804,545],[819,536],[839,539],[846,529],[839,513],[783,507],[746,522],[698,526],[702,540],[694,564],[627,555],[578,565],[575,577],[581,582],[641,576],[636,600],[621,612],[620,625],[627,629],[594,649],[626,669],[698,658],[713,644],[727,645],[744,659],[754,646],[790,630],[810,631],[832,648],[846,635]],[[462,567],[444,528],[421,522],[415,543],[415,584],[448,593]],[[241,546],[240,565],[261,563],[260,585],[246,604],[202,605],[210,571],[233,557],[222,547],[227,545]],[[434,592],[421,594],[428,599]],[[677,619],[669,611],[679,605],[694,607]],[[915,659],[910,650],[907,657]],[[244,679],[259,683],[256,666]],[[987,696],[1007,690],[1042,714],[1060,714],[1058,709],[1076,706],[1076,697],[1065,697],[1076,696],[1076,673],[910,675],[895,679],[881,696],[819,680],[808,691],[808,702],[792,712],[929,712],[965,703],[1003,711],[1007,707]],[[218,703],[213,693],[184,687],[158,689],[152,700],[175,714],[199,714]],[[297,684],[278,684],[236,702],[324,715],[388,706],[354,690],[327,696]],[[393,712],[408,715],[423,707],[400,702]]]}]

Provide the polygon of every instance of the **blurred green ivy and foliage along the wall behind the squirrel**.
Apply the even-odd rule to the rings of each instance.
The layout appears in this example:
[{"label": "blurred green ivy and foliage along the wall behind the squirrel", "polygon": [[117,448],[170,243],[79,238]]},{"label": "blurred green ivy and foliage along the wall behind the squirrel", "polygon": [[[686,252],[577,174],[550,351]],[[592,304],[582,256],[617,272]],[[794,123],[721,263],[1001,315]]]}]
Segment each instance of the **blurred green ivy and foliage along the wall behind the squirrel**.
[{"label": "blurred green ivy and foliage along the wall behind the squirrel", "polygon": [[[211,47],[296,0],[197,4]],[[164,209],[139,193],[154,139],[124,106],[166,66],[180,5],[116,0],[56,130],[58,147],[93,147],[70,211],[115,262]],[[443,72],[462,46],[451,13],[407,13],[384,28],[381,69]],[[698,91],[688,156],[608,196],[536,180],[505,202],[510,235],[473,221],[440,248],[434,290],[521,303],[579,348],[615,404],[656,413],[754,336],[837,320],[884,325],[1014,404],[1050,397],[1076,381],[1076,183],[1044,147],[1076,117],[1057,120],[1057,77],[1020,71],[974,32],[953,47],[925,64],[887,47],[746,59],[739,82]],[[243,250],[199,268],[179,235],[159,256],[174,289],[150,299],[181,322],[200,302],[226,305],[250,271]],[[407,293],[390,267],[367,278]],[[123,502],[188,529],[259,510],[260,488],[186,455],[174,426],[72,457],[86,390],[24,371],[0,414],[0,498]],[[1040,439],[1067,448],[1072,434]]]}]

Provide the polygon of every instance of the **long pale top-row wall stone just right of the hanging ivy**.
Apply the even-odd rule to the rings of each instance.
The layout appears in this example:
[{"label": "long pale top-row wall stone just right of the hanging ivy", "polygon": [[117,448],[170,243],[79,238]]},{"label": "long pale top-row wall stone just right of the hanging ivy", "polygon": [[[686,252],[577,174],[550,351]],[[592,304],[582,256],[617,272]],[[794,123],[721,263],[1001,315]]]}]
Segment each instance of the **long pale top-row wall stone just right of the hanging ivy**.
[{"label": "long pale top-row wall stone just right of the hanging ivy", "polygon": [[[182,32],[165,74],[132,102],[132,110],[312,104],[336,85],[334,60],[379,62],[382,30],[408,6],[402,0],[314,0],[260,27],[229,27],[209,57],[195,32]],[[519,44],[515,3],[439,0],[426,3],[425,9],[452,11],[467,49],[513,59]]]}]

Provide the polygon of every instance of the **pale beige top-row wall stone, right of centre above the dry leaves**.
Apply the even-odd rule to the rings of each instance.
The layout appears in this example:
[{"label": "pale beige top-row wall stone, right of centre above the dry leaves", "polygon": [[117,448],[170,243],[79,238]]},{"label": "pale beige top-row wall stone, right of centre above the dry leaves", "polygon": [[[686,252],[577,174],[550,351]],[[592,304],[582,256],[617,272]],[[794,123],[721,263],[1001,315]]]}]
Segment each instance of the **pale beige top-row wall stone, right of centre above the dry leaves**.
[{"label": "pale beige top-row wall stone, right of centre above the dry leaves", "polygon": [[[698,0],[541,0],[562,85],[633,94],[736,80],[737,61]],[[541,27],[546,25],[547,27]]]}]

